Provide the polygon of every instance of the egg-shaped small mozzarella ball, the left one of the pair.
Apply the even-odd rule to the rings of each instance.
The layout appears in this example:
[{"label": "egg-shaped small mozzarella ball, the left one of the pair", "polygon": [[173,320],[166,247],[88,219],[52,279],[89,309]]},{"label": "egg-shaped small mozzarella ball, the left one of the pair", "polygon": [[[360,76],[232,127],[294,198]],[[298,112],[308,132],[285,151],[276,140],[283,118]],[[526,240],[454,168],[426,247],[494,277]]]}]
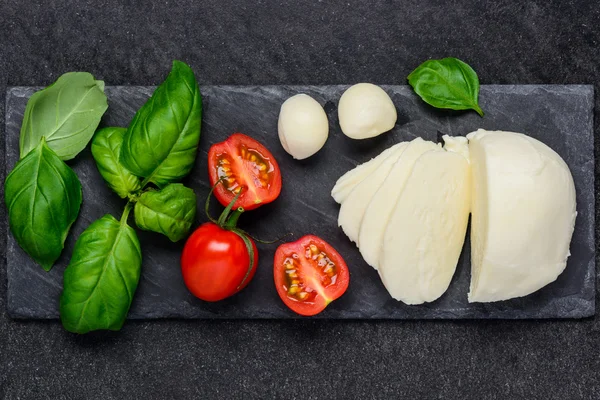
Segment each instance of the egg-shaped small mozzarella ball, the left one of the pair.
[{"label": "egg-shaped small mozzarella ball, the left one of the pair", "polygon": [[296,160],[321,150],[329,135],[325,110],[306,94],[292,96],[281,105],[277,128],[281,145]]}]

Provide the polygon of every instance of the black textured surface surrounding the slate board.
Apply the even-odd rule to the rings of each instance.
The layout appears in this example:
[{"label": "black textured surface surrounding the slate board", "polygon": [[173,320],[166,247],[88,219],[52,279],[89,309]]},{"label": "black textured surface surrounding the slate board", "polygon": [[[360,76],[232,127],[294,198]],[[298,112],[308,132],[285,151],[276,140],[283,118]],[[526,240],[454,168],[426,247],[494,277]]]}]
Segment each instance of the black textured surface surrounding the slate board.
[{"label": "black textured surface surrounding the slate board", "polygon": [[[0,93],[69,70],[157,84],[174,58],[193,65],[201,84],[402,83],[423,60],[448,55],[469,62],[482,83],[600,90],[595,1],[47,3],[0,3]],[[597,97],[596,121],[599,105]],[[0,129],[3,119],[1,96]],[[75,337],[57,322],[10,320],[5,272],[3,264],[0,397],[8,399],[600,398],[598,317],[130,321],[119,333]]]}]

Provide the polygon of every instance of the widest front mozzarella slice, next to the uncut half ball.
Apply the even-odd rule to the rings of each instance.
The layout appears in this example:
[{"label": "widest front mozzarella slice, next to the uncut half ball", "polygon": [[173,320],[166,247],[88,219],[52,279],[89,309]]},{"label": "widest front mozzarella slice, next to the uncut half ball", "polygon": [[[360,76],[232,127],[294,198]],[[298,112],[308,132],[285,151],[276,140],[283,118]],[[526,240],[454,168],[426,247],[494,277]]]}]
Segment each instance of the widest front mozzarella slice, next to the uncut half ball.
[{"label": "widest front mozzarella slice, next to the uncut half ball", "polygon": [[470,208],[470,168],[462,155],[428,151],[415,163],[383,236],[379,274],[406,304],[439,298],[450,285]]}]

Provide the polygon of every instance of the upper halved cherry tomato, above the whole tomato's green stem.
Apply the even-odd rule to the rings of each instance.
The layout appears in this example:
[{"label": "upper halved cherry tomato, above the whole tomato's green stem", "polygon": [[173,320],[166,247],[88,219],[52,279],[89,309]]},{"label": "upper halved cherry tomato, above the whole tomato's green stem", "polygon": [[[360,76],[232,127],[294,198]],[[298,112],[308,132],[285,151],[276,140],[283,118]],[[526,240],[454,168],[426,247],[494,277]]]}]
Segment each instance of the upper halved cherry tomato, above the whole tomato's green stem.
[{"label": "upper halved cherry tomato, above the whole tomato's green stem", "polygon": [[281,192],[281,172],[271,152],[241,133],[211,146],[208,176],[211,186],[223,178],[224,185],[215,189],[215,196],[224,206],[244,188],[234,209],[253,210],[272,202]]}]

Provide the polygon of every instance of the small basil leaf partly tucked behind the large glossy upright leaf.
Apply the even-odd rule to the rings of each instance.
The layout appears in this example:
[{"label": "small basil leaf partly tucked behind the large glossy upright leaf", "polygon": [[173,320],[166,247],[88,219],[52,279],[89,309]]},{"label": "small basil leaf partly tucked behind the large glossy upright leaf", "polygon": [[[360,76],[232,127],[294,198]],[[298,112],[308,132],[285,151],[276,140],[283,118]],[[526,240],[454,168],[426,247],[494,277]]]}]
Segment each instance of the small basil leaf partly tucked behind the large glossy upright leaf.
[{"label": "small basil leaf partly tucked behind the large glossy upright leaf", "polygon": [[119,162],[125,128],[103,128],[94,135],[92,155],[100,175],[121,198],[126,198],[142,188],[140,180]]}]

